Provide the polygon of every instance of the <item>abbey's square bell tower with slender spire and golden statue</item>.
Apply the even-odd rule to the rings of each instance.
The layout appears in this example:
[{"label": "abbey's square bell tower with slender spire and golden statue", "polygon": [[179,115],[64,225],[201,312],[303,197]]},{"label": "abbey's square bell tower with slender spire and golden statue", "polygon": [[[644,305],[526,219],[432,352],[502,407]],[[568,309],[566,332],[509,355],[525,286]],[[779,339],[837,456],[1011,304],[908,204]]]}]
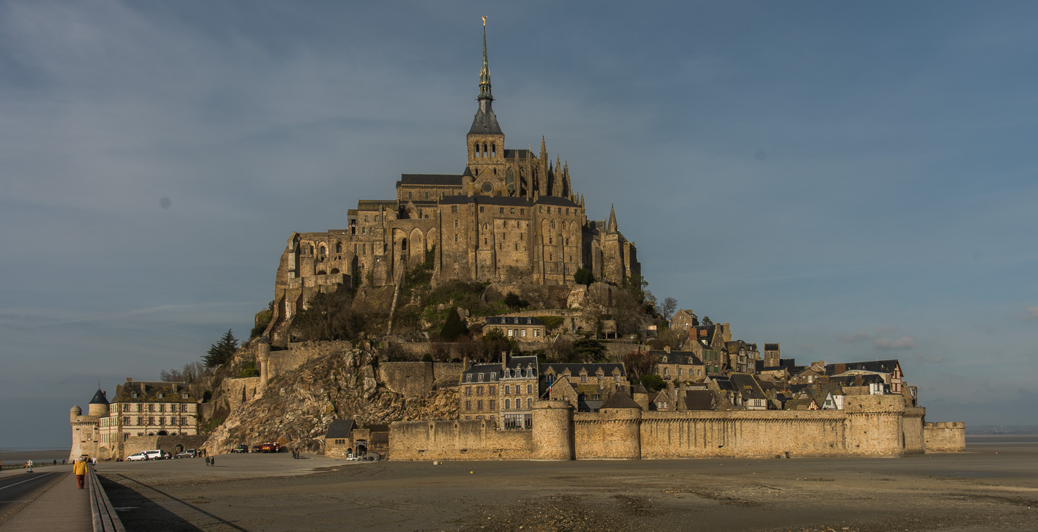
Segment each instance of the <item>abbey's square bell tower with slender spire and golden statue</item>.
[{"label": "abbey's square bell tower with slender spire and golden statue", "polygon": [[504,191],[504,133],[497,123],[491,104],[490,66],[487,64],[487,18],[483,18],[483,67],[480,68],[480,95],[475,99],[472,127],[465,137],[468,143],[468,169],[472,172],[474,194],[503,195]]}]

